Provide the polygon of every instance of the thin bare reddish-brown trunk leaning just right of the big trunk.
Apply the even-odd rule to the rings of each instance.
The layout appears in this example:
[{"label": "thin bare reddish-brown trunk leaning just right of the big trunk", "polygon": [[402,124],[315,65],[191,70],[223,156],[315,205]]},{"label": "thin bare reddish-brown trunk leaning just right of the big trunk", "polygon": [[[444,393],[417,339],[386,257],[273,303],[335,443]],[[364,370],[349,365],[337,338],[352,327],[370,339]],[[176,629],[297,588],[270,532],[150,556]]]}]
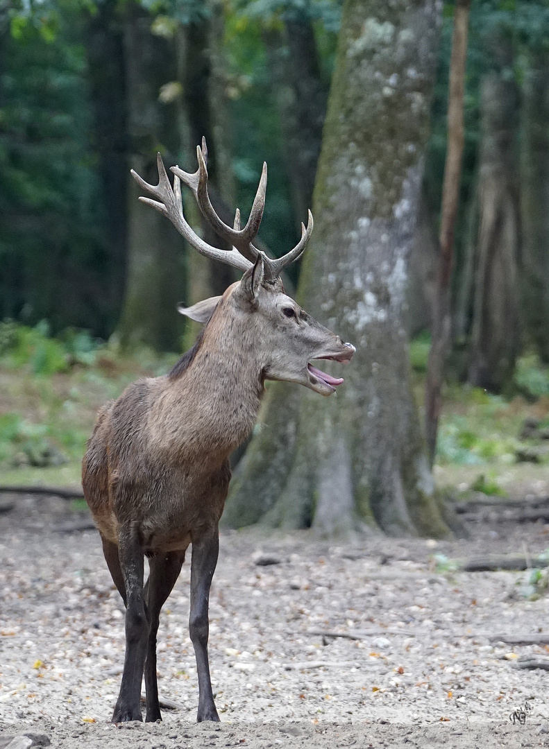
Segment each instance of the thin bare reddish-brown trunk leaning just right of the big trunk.
[{"label": "thin bare reddish-brown trunk leaning just right of the big trunk", "polygon": [[443,205],[440,219],[440,263],[434,304],[434,325],[425,385],[425,435],[431,466],[437,450],[437,429],[442,410],[444,368],[452,340],[451,279],[454,264],[455,221],[463,154],[463,89],[467,57],[467,31],[471,0],[457,0],[450,61],[448,100],[448,148],[444,169]]}]

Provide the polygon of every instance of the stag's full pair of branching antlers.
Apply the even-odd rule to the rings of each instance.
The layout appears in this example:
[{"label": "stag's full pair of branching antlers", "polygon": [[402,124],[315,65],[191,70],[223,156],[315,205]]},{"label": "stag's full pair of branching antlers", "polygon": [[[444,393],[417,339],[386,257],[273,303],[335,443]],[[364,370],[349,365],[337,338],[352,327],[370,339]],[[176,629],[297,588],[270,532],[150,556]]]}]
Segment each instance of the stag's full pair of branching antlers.
[{"label": "stag's full pair of branching antlers", "polygon": [[[171,171],[174,174],[173,188],[169,184],[169,179],[166,174],[166,169],[164,169],[160,154],[157,154],[159,177],[157,186],[149,185],[132,169],[131,173],[137,184],[139,184],[139,187],[142,187],[142,189],[145,189],[147,192],[150,192],[151,195],[154,195],[155,198],[158,198],[158,200],[151,200],[151,198],[139,198],[139,200],[148,203],[156,208],[156,210],[160,211],[160,213],[163,213],[164,216],[167,216],[187,242],[202,255],[233,265],[233,267],[236,267],[239,270],[248,270],[261,254],[263,255],[263,261],[265,263],[266,277],[268,279],[275,279],[277,276],[280,276],[282,270],[287,267],[287,265],[290,265],[290,263],[293,263],[293,261],[297,260],[297,258],[302,255],[309,237],[311,237],[311,232],[313,231],[313,216],[311,211],[309,211],[307,228],[302,224],[302,237],[299,240],[299,243],[297,243],[290,252],[283,255],[283,257],[271,260],[270,258],[267,258],[263,252],[260,252],[260,250],[253,244],[253,240],[257,237],[257,232],[260,229],[261,219],[263,218],[263,209],[265,208],[265,194],[267,189],[266,163],[263,163],[260,184],[257,188],[248,222],[245,227],[241,229],[240,211],[238,208],[236,210],[234,226],[231,228],[230,226],[227,226],[219,216],[217,216],[217,213],[211,204],[208,195],[208,170],[206,169],[208,148],[206,147],[205,138],[202,138],[202,148],[196,146],[196,156],[198,158],[198,169],[192,174],[190,172],[184,172],[182,169],[179,169],[178,166],[172,166]],[[219,237],[229,242],[232,245],[232,249],[226,250],[211,246],[205,243],[204,240],[202,240],[198,234],[190,228],[183,216],[180,180],[193,191],[200,212],[209,225],[211,225],[211,228],[214,229]]]}]

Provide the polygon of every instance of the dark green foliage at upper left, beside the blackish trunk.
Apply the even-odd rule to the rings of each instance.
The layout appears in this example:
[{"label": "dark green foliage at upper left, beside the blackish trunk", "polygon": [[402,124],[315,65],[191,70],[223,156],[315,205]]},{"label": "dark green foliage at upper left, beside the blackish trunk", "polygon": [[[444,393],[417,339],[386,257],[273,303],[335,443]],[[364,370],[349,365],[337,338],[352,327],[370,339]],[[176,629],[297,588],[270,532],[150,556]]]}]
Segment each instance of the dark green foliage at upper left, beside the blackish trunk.
[{"label": "dark green foliage at upper left, beside the blackish trunk", "polygon": [[0,319],[103,332],[101,201],[81,19],[45,2],[13,11],[10,21],[12,34],[0,28]]}]

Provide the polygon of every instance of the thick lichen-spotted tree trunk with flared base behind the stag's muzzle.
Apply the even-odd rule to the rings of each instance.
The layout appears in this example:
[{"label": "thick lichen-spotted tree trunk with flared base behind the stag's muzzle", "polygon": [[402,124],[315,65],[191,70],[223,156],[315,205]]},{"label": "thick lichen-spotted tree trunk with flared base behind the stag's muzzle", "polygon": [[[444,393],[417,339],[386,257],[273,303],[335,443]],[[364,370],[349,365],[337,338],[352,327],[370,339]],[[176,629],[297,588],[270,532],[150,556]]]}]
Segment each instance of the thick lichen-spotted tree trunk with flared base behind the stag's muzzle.
[{"label": "thick lichen-spotted tree trunk with flared base behind the stag's muzzle", "polygon": [[[448,531],[410,389],[403,303],[437,60],[436,0],[346,0],[299,301],[357,351],[338,394],[272,383],[226,523]],[[334,370],[335,371],[335,370]]]}]

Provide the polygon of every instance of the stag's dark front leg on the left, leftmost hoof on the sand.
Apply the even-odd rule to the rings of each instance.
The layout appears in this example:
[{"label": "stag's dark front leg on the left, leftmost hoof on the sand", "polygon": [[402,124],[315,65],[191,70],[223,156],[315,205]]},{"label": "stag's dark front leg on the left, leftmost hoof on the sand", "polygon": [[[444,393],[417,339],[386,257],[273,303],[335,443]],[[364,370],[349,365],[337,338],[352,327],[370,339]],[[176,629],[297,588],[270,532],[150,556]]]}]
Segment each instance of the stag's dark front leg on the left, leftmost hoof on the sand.
[{"label": "stag's dark front leg on the left, leftmost hoof on the sand", "polygon": [[118,556],[126,592],[126,652],[113,723],[142,721],[141,682],[150,626],[143,592],[143,546],[135,528],[121,529]]}]

